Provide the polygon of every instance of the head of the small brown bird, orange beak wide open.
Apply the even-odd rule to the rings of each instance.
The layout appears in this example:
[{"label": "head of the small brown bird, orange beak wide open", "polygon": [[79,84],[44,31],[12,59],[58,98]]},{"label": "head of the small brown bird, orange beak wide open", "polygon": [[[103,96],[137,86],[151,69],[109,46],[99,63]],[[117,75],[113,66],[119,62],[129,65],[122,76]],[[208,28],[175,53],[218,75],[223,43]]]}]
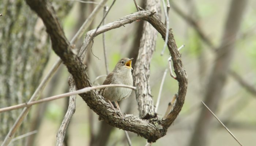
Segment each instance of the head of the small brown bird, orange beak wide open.
[{"label": "head of the small brown bird, orange beak wide open", "polygon": [[114,71],[116,72],[121,72],[121,71],[125,71],[125,70],[133,70],[132,68],[132,59],[129,59],[129,58],[122,58],[120,59],[115,68],[114,68]]}]

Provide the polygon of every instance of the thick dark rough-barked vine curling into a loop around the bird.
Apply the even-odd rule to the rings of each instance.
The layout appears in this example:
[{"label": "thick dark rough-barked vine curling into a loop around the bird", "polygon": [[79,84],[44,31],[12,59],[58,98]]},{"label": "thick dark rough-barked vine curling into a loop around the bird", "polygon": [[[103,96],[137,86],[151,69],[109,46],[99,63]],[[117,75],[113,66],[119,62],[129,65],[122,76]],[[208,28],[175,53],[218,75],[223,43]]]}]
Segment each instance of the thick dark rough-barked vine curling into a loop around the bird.
[{"label": "thick dark rough-barked vine curling into a loop around the bird", "polygon": [[[47,32],[52,41],[52,49],[60,56],[64,64],[67,66],[69,73],[72,74],[76,88],[81,89],[84,87],[90,87],[91,82],[86,73],[87,67],[82,63],[80,58],[71,51],[70,44],[67,41],[67,38],[65,38],[64,32],[58,22],[52,6],[48,2],[42,0],[26,1],[27,4],[29,4],[29,6],[44,21]],[[138,19],[147,20],[161,33],[162,37],[165,37],[165,25],[151,11],[139,11],[134,14],[127,15],[124,18],[118,19],[116,22],[100,27],[97,33],[123,26],[124,24],[131,23]],[[92,32],[94,31],[95,30],[92,30]],[[187,74],[183,68],[181,56],[177,50],[171,31],[169,31],[169,36],[168,48],[172,55],[174,70],[177,75],[177,81],[179,82],[179,91],[176,105],[166,120],[157,120],[153,122],[131,115],[123,115],[119,111],[115,112],[115,110],[111,108],[111,105],[107,103],[96,91],[80,94],[87,105],[103,120],[105,120],[106,123],[126,131],[135,132],[136,134],[146,138],[148,142],[155,142],[166,134],[167,128],[172,124],[180,112],[187,92]],[[89,36],[87,36],[87,38],[89,38]],[[85,38],[85,41],[87,38]],[[84,46],[82,46],[82,48],[83,47]],[[81,51],[83,51],[82,48]]]}]

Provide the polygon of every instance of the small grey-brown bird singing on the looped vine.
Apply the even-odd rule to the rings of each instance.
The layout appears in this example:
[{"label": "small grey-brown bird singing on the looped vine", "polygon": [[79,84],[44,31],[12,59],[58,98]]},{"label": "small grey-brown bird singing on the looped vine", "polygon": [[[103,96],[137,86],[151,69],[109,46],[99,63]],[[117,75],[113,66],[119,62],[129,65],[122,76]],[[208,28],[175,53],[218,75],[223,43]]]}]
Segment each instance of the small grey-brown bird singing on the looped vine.
[{"label": "small grey-brown bird singing on the looped vine", "polygon": [[[103,85],[109,84],[124,84],[124,85],[133,85],[133,78],[132,78],[132,59],[129,58],[122,58],[120,59],[115,68],[111,73],[108,74]],[[123,100],[128,98],[132,93],[132,89],[123,88],[123,87],[116,87],[116,88],[104,88],[101,91],[102,96],[107,99],[112,106],[113,109],[114,105],[111,102],[116,103],[116,107],[119,111],[120,107],[117,101]]]}]

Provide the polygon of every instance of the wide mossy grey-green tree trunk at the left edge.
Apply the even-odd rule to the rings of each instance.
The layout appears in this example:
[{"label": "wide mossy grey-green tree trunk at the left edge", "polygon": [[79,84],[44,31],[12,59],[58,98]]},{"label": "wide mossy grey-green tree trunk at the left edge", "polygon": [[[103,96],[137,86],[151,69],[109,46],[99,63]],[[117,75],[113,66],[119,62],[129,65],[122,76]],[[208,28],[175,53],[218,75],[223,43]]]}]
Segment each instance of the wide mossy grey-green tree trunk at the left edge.
[{"label": "wide mossy grey-green tree trunk at the left edge", "polygon": [[[26,102],[37,87],[50,50],[45,27],[22,0],[1,1],[0,9],[0,107]],[[41,24],[41,25],[40,25]],[[20,110],[0,114],[0,143]],[[30,116],[15,136],[29,132]],[[11,145],[25,145],[25,139]]]}]

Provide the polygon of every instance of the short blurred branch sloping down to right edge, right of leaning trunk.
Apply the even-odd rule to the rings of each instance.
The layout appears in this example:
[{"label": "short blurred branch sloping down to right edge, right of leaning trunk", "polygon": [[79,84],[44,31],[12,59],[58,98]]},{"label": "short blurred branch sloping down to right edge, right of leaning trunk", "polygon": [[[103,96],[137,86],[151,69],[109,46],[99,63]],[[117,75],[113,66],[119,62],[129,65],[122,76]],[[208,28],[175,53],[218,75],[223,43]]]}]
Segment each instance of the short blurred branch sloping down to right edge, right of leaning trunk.
[{"label": "short blurred branch sloping down to right edge, right of leaning trunk", "polygon": [[247,91],[249,91],[250,93],[252,93],[253,95],[256,95],[256,88],[254,88],[252,85],[249,85],[241,76],[239,76],[239,74],[237,74],[236,72],[230,70],[229,74],[235,79],[237,80],[237,82],[244,87]]}]

